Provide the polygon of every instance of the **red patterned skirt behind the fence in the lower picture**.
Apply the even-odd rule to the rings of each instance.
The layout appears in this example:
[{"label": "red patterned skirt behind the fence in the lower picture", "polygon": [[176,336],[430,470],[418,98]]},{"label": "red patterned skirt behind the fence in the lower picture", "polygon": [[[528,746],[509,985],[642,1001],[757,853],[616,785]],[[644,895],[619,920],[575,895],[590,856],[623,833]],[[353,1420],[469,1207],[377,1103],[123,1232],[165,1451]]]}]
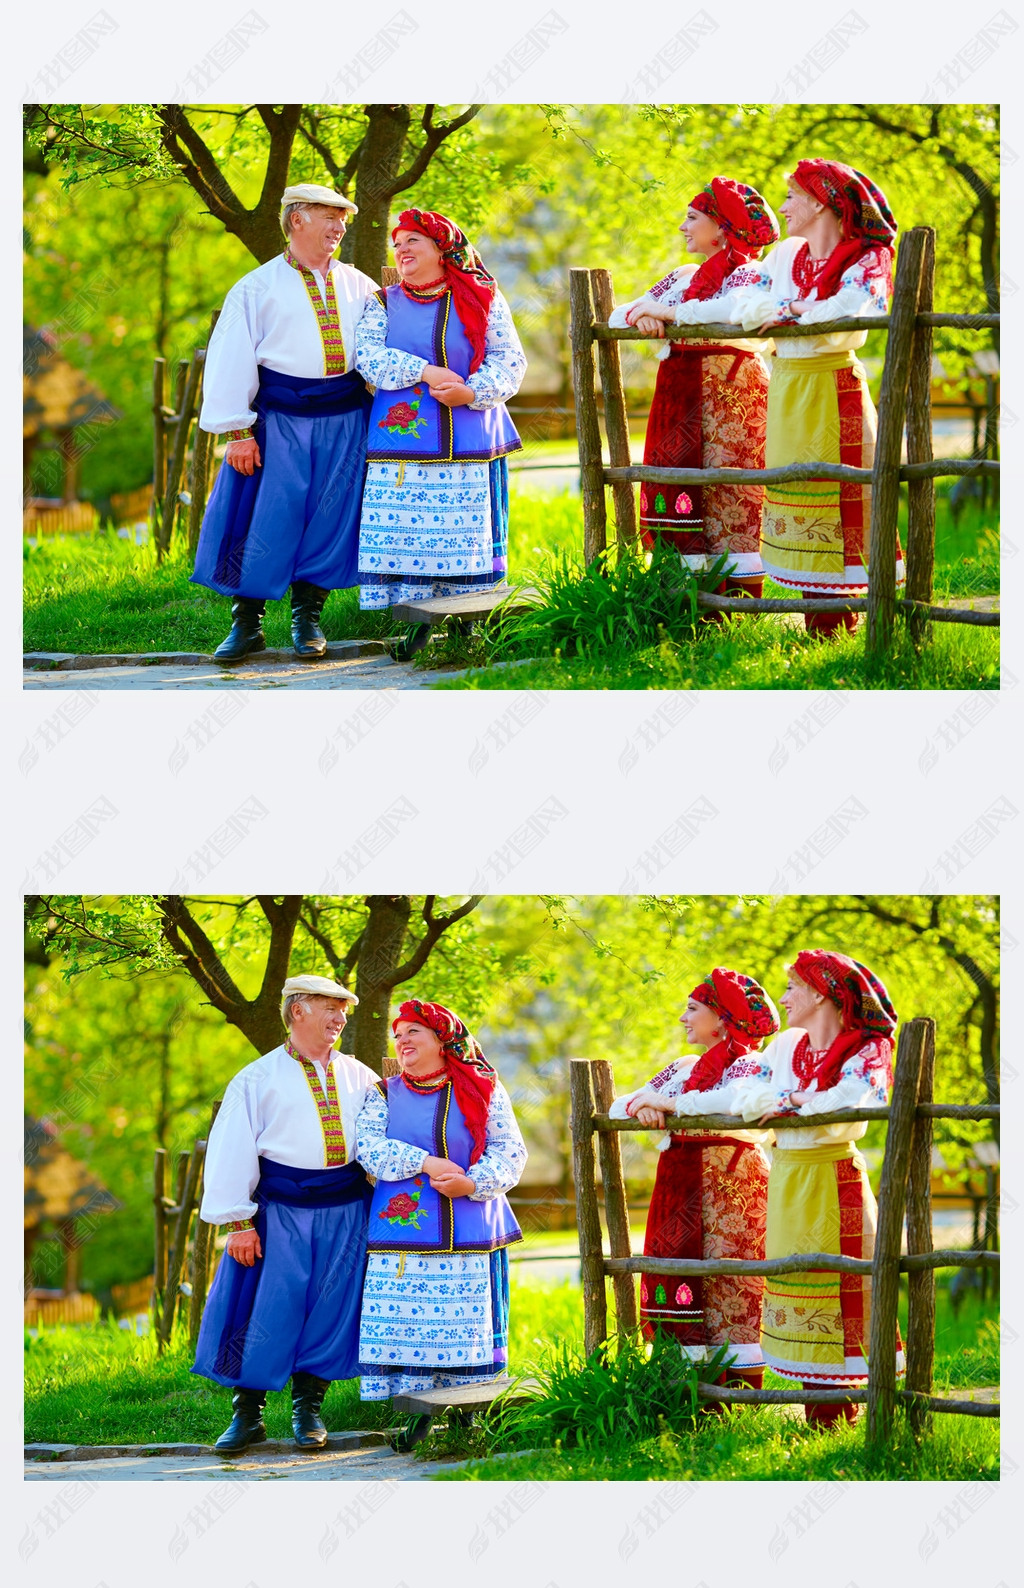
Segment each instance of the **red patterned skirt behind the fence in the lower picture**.
[{"label": "red patterned skirt behind the fence in the lower picture", "polygon": [[[645,1256],[762,1259],[767,1207],[768,1159],[760,1147],[721,1135],[673,1135],[657,1164]],[[729,1343],[738,1367],[760,1367],[764,1283],[759,1275],[645,1274],[643,1332],[651,1339],[664,1329],[697,1359]]]}]

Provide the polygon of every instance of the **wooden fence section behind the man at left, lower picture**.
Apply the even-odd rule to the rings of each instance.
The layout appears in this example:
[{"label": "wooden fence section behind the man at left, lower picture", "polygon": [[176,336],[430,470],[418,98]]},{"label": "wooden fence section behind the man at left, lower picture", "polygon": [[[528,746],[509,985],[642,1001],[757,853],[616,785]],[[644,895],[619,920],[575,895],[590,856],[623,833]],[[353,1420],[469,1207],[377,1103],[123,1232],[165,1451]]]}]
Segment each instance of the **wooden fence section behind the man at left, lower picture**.
[{"label": "wooden fence section behind the man at left, lower picture", "polygon": [[[214,1102],[210,1126],[218,1116]],[[178,1153],[175,1196],[167,1194],[167,1153],[157,1147],[152,1162],[152,1326],[157,1348],[170,1345],[181,1297],[189,1302],[189,1339],[198,1339],[206,1291],[213,1277],[216,1228],[198,1216],[203,1197],[203,1164],[206,1137],[198,1139],[191,1153]],[[192,1220],[195,1215],[195,1221]],[[186,1278],[187,1275],[187,1278]]]}]

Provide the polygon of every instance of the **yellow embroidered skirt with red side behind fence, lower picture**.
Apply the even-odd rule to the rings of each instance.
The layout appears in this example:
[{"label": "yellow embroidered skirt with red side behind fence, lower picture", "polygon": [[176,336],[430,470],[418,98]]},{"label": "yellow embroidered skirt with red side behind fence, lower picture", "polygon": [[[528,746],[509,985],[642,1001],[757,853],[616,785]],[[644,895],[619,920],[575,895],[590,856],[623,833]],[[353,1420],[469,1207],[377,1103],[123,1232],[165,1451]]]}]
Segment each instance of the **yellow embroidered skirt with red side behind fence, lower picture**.
[{"label": "yellow embroidered skirt with red side behind fence, lower picture", "polygon": [[[775,1150],[767,1258],[829,1251],[870,1259],[875,1213],[864,1159],[849,1142]],[[760,1332],[767,1366],[803,1383],[865,1383],[870,1307],[868,1274],[770,1274]],[[899,1332],[897,1367],[903,1370]]]}]

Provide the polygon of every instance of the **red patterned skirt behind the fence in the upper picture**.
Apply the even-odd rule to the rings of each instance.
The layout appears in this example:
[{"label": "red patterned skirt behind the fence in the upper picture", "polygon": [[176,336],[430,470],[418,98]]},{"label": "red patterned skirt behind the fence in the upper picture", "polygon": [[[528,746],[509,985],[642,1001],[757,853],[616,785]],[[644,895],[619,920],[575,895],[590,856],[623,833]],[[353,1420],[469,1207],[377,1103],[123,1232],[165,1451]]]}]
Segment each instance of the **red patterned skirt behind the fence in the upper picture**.
[{"label": "red patterned skirt behind the fence in the upper picture", "polygon": [[[764,468],[768,370],[756,353],[673,341],[657,370],[643,461],[656,468]],[[675,546],[691,567],[729,553],[759,576],[762,486],[640,488],[643,543]]]}]

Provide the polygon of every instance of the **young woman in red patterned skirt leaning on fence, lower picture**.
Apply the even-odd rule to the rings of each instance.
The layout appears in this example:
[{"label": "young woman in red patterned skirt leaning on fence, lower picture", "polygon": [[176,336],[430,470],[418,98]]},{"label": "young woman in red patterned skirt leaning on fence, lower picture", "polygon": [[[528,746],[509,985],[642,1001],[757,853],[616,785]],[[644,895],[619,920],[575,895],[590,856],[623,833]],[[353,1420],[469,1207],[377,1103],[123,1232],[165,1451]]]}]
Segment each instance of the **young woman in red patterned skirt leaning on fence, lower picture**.
[{"label": "young woman in red patterned skirt leaning on fence, lower picture", "polygon": [[[697,1059],[659,1070],[638,1091],[616,1097],[611,1116],[664,1126],[667,1115],[741,1115],[751,1085],[770,1085],[760,1043],[780,1029],[767,992],[738,970],[716,967],[689,996],[681,1024]],[[764,1259],[770,1131],[684,1131],[662,1143],[643,1243],[654,1258]],[[684,1358],[705,1361],[729,1345],[729,1383],[760,1388],[764,1278],[699,1278],[645,1274],[640,1318],[645,1334],[664,1331]]]}]

